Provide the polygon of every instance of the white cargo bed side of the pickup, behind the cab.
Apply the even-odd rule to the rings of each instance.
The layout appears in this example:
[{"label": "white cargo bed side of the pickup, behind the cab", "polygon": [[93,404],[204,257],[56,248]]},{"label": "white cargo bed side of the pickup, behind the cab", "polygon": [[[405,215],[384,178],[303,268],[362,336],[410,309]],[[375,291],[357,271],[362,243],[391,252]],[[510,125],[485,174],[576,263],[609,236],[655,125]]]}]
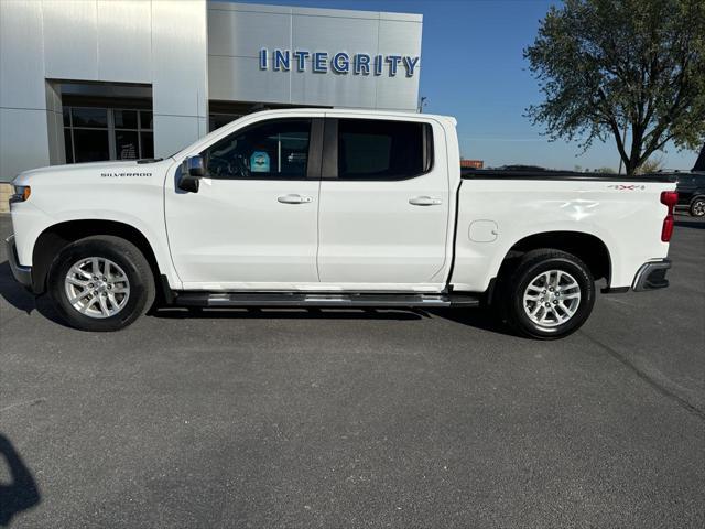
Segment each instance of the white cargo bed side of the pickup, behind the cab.
[{"label": "white cargo bed side of the pickup, behind the cab", "polygon": [[[568,234],[605,248],[610,289],[630,287],[644,262],[664,259],[661,240],[672,174],[625,176],[542,170],[463,170],[451,283],[482,292],[505,256],[540,234],[550,248]],[[588,238],[585,238],[588,236]],[[599,244],[597,245],[597,241]],[[491,272],[489,272],[491,270]]]}]

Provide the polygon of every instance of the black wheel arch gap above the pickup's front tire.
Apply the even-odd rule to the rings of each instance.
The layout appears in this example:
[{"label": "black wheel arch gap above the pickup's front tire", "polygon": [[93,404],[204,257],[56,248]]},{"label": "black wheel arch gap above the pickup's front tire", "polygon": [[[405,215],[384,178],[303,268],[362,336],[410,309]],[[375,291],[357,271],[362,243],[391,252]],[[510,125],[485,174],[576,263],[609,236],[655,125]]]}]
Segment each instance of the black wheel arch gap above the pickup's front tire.
[{"label": "black wheel arch gap above the pickup's front tire", "polygon": [[154,284],[160,281],[160,267],[154,249],[144,234],[126,223],[107,219],[65,220],[45,228],[36,238],[32,250],[32,287],[36,294],[46,291],[46,281],[52,264],[66,246],[85,237],[96,235],[111,235],[132,242],[139,248],[150,264],[154,276]]}]

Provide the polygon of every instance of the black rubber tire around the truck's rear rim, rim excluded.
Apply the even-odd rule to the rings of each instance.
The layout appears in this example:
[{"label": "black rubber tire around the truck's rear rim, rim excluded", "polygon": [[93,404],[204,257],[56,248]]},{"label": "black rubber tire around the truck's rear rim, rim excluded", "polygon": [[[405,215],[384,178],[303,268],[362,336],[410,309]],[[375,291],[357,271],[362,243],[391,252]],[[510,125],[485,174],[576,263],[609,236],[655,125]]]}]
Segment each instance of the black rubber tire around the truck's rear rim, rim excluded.
[{"label": "black rubber tire around the truck's rear rim, rim excluded", "polygon": [[[551,270],[567,272],[579,287],[575,313],[564,323],[541,325],[531,320],[524,309],[524,292],[535,278]],[[577,331],[595,305],[595,280],[587,266],[577,257],[554,249],[527,252],[507,277],[500,278],[499,309],[503,320],[520,335],[536,339],[556,339]],[[556,319],[557,320],[557,319]],[[554,323],[551,325],[551,323]]]}]

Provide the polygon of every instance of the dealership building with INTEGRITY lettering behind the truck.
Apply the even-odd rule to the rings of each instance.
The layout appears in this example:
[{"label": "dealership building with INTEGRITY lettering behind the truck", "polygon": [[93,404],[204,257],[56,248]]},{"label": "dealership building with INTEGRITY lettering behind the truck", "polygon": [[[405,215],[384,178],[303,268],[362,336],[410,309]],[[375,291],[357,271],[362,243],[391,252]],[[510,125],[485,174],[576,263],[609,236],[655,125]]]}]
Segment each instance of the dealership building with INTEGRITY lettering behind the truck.
[{"label": "dealership building with INTEGRITY lettering behind the truck", "polygon": [[260,108],[417,105],[419,14],[206,0],[2,0],[0,11],[0,182],[165,156]]}]

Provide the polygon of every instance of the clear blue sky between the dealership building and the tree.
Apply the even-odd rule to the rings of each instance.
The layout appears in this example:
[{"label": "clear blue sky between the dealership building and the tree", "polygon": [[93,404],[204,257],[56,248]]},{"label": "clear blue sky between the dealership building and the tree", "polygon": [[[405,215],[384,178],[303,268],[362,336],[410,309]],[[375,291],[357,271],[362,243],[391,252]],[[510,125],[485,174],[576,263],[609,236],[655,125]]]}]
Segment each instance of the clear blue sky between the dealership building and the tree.
[{"label": "clear blue sky between the dealership building and the tree", "polygon": [[[281,0],[249,1],[315,8],[423,14],[420,95],[424,112],[455,116],[460,153],[485,166],[541,165],[553,169],[618,169],[614,139],[583,152],[577,142],[550,142],[524,117],[541,102],[523,50],[538,32],[551,0]],[[663,166],[690,170],[696,152],[668,145]]]}]

